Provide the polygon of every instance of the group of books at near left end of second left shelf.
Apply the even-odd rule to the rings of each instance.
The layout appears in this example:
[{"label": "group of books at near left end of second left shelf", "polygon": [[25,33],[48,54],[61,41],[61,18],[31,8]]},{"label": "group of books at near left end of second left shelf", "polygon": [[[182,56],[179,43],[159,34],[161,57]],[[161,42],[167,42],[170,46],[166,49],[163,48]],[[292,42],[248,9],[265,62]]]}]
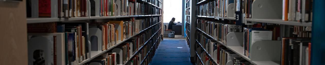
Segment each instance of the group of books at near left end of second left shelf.
[{"label": "group of books at near left end of second left shelf", "polygon": [[90,58],[88,23],[35,23],[27,29],[29,64],[75,65]]}]

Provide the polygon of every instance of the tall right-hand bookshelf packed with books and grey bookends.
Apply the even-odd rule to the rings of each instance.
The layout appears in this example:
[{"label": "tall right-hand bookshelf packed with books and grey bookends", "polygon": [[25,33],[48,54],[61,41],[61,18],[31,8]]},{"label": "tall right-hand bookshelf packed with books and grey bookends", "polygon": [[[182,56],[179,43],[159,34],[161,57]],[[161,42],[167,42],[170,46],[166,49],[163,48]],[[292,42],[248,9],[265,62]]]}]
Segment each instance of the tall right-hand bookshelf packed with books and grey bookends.
[{"label": "tall right-hand bookshelf packed with books and grey bookends", "polygon": [[[227,1],[227,2],[225,2],[225,1]],[[230,2],[230,1],[233,1],[233,2]],[[242,5],[242,2],[244,2],[244,1],[247,1],[248,4]],[[284,1],[286,1],[286,0],[283,0],[283,2]],[[291,0],[291,1],[293,1],[293,0]],[[225,3],[223,5],[214,5],[215,3],[220,4],[220,2],[225,2]],[[313,5],[313,7],[312,7],[313,11],[315,8],[314,2],[308,3],[308,4]],[[315,29],[310,30],[310,27],[314,28],[314,25],[316,25],[315,19],[313,19],[315,17],[315,15],[314,15],[315,12],[312,13],[313,14],[312,17],[305,16],[307,18],[309,17],[310,18],[309,20],[305,19],[305,21],[301,21],[301,19],[302,19],[301,16],[291,17],[291,18],[296,18],[294,20],[283,20],[282,16],[284,16],[284,14],[282,14],[282,12],[284,10],[282,10],[282,9],[284,9],[284,8],[282,8],[282,5],[276,5],[276,4],[282,4],[282,0],[279,0],[279,1],[255,0],[252,2],[250,2],[250,0],[186,0],[185,3],[186,4],[190,3],[190,6],[185,7],[185,10],[189,9],[190,13],[184,15],[184,16],[188,17],[187,19],[189,22],[186,22],[186,24],[188,24],[188,26],[189,26],[187,28],[190,29],[190,30],[186,30],[186,32],[188,32],[188,33],[186,33],[186,35],[190,35],[186,39],[188,39],[188,41],[189,41],[188,44],[190,47],[191,62],[195,62],[197,65],[206,65],[206,63],[208,61],[210,61],[208,63],[212,62],[211,64],[213,64],[213,65],[221,65],[219,63],[219,61],[227,60],[227,59],[221,59],[221,58],[220,59],[214,58],[214,56],[213,56],[214,51],[213,50],[211,51],[211,48],[212,48],[211,45],[214,45],[214,44],[217,44],[218,45],[217,47],[223,47],[223,48],[218,48],[218,50],[221,49],[221,50],[225,50],[225,52],[229,52],[229,54],[238,55],[238,58],[240,60],[244,59],[245,60],[244,62],[248,62],[253,65],[283,65],[283,63],[285,63],[287,61],[292,61],[291,59],[290,60],[289,59],[281,60],[281,59],[284,59],[284,56],[281,56],[281,55],[285,55],[284,53],[288,53],[288,52],[283,52],[283,51],[287,51],[287,50],[283,49],[283,47],[286,47],[283,45],[287,45],[287,42],[288,42],[288,40],[286,40],[285,38],[293,37],[293,39],[300,39],[300,38],[297,38],[296,36],[299,37],[299,36],[302,36],[304,34],[304,32],[312,31],[312,32],[310,32],[309,36],[306,36],[308,38],[308,40],[306,40],[306,42],[304,42],[303,44],[305,45],[305,44],[308,44],[307,43],[308,41],[310,42],[311,40],[315,40],[315,38],[313,37],[313,36],[315,36],[315,34],[314,34]],[[238,5],[238,3],[240,3],[240,5]],[[303,3],[303,2],[301,2],[301,3]],[[213,7],[213,6],[216,6],[216,7]],[[221,7],[218,7],[218,6],[221,6]],[[242,6],[246,6],[247,8],[243,9],[243,8],[241,8]],[[319,6],[319,7],[323,7],[323,6]],[[240,8],[240,9],[238,9],[238,8]],[[318,9],[323,10],[324,8],[318,8]],[[306,13],[308,13],[308,12],[306,12]],[[323,12],[321,12],[321,13],[323,14]],[[321,13],[319,13],[319,14],[321,14]],[[289,15],[289,16],[291,16],[291,15]],[[297,18],[300,18],[300,19],[298,20]],[[200,21],[199,21],[199,19],[200,19]],[[202,19],[203,20],[205,19],[205,20],[201,21]],[[310,22],[311,19],[313,20],[312,22]],[[205,24],[203,24],[203,22]],[[204,27],[204,29],[201,30],[201,28],[197,27],[197,26],[199,26],[199,23],[202,23],[200,25],[200,27],[201,26],[206,26],[206,27]],[[320,22],[318,21],[318,23],[320,23]],[[225,25],[225,28],[222,29],[220,27],[220,30],[213,28],[214,26],[217,26],[219,24]],[[244,35],[245,32],[225,32],[227,30],[226,25],[228,25],[228,24],[229,25],[236,24],[236,26],[242,26],[241,28],[253,28],[253,27],[255,27],[255,25],[262,25],[261,27],[274,26],[274,27],[279,28],[279,29],[273,30],[273,32],[279,33],[279,34],[274,34],[274,35],[279,35],[279,36],[275,37],[277,39],[258,40],[255,42],[249,42],[249,44],[247,44],[248,46],[247,45],[245,46],[245,44],[246,44],[245,40],[247,40],[247,39],[245,39],[245,35]],[[323,24],[321,24],[321,25],[323,25]],[[303,27],[303,29],[300,29],[298,27]],[[310,31],[307,31],[307,29],[309,29]],[[242,30],[244,31],[244,29],[242,29]],[[277,30],[277,31],[275,31],[275,30]],[[299,33],[295,33],[295,31],[297,31],[297,30]],[[317,31],[319,32],[322,30],[318,29]],[[302,34],[300,35],[300,33],[302,33]],[[311,36],[311,33],[313,33],[313,36]],[[216,35],[218,35],[218,34],[221,34],[222,36],[216,37]],[[197,39],[198,37],[204,38],[205,41],[209,41],[209,42],[201,43],[202,40],[199,41]],[[305,37],[305,36],[303,36],[303,37]],[[248,40],[250,40],[250,39],[251,39],[251,37],[248,38]],[[210,42],[210,41],[213,41],[213,42]],[[320,45],[319,43],[320,42],[318,42],[316,44]],[[312,44],[311,46],[315,46],[315,45],[313,45],[313,43],[311,43],[311,44]],[[304,46],[304,48],[305,47],[306,46]],[[318,48],[318,47],[315,49],[320,50],[320,48]],[[199,52],[200,50],[195,50],[197,48],[202,49],[204,51],[203,52],[204,55],[206,55],[205,57],[207,57],[207,58],[202,58],[201,57],[202,54],[200,55],[200,52]],[[309,43],[309,47],[307,47],[307,48],[314,48],[314,47],[310,47],[310,43]],[[249,49],[249,50],[247,51],[247,49]],[[213,53],[210,53],[210,52],[213,52]],[[317,52],[313,52],[310,50],[306,51],[306,52],[302,52],[302,53],[308,54],[308,52],[309,52],[309,54],[310,53],[311,54],[313,54],[313,53],[319,54]],[[292,54],[292,53],[288,53],[288,54]],[[300,55],[302,55],[302,54],[300,54]],[[308,56],[301,56],[301,57],[295,56],[295,57],[302,58],[302,57],[308,57]],[[308,59],[315,60],[314,57],[316,57],[316,56],[311,56]],[[205,59],[208,59],[208,60],[205,60]],[[205,61],[203,61],[203,60],[205,60]],[[319,60],[319,59],[317,59],[317,60]],[[229,59],[228,59],[228,61],[229,61]],[[232,64],[232,62],[234,62],[234,61],[223,62],[222,65],[230,65],[228,63]],[[225,63],[227,63],[227,64],[225,64]],[[314,62],[311,61],[310,63],[312,64]],[[317,61],[315,63],[319,64],[319,61]],[[284,64],[284,65],[287,65],[287,64]]]}]

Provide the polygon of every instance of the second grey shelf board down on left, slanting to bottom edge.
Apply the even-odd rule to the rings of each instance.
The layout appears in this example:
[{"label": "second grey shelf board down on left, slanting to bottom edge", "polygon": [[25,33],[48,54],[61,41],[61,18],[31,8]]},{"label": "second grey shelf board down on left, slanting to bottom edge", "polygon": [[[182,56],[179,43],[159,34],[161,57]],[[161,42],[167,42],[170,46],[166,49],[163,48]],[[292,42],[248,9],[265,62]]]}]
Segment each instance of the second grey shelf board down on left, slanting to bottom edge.
[{"label": "second grey shelf board down on left, slanting to bottom edge", "polygon": [[[161,23],[161,22],[159,22],[159,23]],[[156,24],[158,24],[158,23],[156,23]],[[142,30],[141,32],[148,30],[149,28],[155,26],[156,24],[154,24],[154,25],[152,25],[152,26],[150,26],[150,27],[148,27],[148,28]],[[161,28],[160,28],[160,29],[161,29]],[[159,29],[158,31],[160,31],[160,29]],[[158,31],[157,31],[157,32],[158,32]],[[139,32],[139,33],[141,33],[141,32]],[[156,32],[156,33],[157,33],[157,32]],[[156,34],[156,33],[155,33],[155,34]],[[113,48],[116,47],[117,45],[123,44],[125,41],[127,41],[127,40],[133,38],[133,37],[136,36],[136,35],[138,35],[138,33],[137,33],[137,34],[134,34],[133,36],[131,36],[131,37],[127,38],[127,39],[124,39],[123,41],[117,41],[117,42],[116,42],[116,43],[117,43],[116,45],[113,45],[112,47],[108,48],[107,50],[104,50],[104,51],[91,51],[91,52],[90,52],[91,57],[90,57],[89,59],[85,59],[84,61],[80,62],[79,65],[84,65],[85,63],[89,62],[90,60],[95,59],[95,58],[98,57],[99,55],[101,55],[101,54],[103,54],[103,53],[105,53],[105,52],[107,52],[107,51],[113,49]],[[152,36],[151,36],[151,37],[152,37]],[[149,38],[149,39],[151,39],[151,38]],[[148,41],[147,41],[147,42],[148,42]],[[146,43],[147,43],[147,42],[146,42]],[[145,43],[145,44],[146,44],[146,43]],[[145,44],[144,44],[144,45],[145,45]],[[143,45],[143,46],[144,46],[144,45]]]}]

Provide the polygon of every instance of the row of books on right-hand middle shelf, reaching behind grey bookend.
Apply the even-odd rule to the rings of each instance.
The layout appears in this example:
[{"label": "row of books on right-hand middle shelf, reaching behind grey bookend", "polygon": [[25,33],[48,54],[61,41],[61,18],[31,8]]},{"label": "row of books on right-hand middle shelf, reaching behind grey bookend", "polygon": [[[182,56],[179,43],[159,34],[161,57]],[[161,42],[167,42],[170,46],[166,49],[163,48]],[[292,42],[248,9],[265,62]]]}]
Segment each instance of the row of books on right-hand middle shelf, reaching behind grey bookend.
[{"label": "row of books on right-hand middle shelf, reaching behind grey bookend", "polygon": [[206,19],[197,19],[196,27],[209,34],[214,39],[227,45],[227,34],[229,32],[242,32],[241,25],[225,23],[226,21],[212,21]]}]

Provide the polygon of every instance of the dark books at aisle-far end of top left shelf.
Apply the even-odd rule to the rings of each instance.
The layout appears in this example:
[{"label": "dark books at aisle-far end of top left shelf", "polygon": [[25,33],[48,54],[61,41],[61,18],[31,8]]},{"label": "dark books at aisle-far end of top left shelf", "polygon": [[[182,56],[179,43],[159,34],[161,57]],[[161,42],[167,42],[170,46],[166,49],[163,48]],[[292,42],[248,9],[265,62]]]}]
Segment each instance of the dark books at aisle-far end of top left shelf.
[{"label": "dark books at aisle-far end of top left shelf", "polygon": [[162,9],[149,3],[136,3],[135,15],[161,15]]}]

